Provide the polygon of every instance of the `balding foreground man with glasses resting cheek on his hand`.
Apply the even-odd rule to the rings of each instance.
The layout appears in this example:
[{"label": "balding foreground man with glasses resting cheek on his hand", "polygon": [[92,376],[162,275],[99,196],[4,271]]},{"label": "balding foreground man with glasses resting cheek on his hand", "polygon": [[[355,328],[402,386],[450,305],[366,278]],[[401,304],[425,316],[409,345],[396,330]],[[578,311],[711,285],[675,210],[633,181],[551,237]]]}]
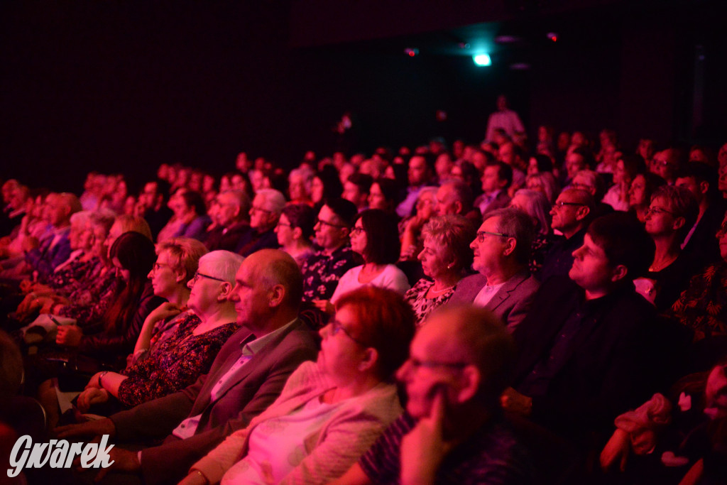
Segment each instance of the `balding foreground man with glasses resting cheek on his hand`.
[{"label": "balding foreground man with glasses resting cheek on his hand", "polygon": [[513,340],[487,310],[443,305],[396,377],[406,412],[336,485],[528,484],[532,468],[502,419]]}]

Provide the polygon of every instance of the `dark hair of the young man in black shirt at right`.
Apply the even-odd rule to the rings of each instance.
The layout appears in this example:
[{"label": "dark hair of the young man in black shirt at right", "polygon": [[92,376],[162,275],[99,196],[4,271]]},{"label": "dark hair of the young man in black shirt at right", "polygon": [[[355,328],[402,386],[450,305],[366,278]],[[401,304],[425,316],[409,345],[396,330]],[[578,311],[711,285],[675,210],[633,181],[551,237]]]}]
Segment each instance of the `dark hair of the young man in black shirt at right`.
[{"label": "dark hair of the young man in black shirt at right", "polygon": [[627,281],[643,276],[654,261],[656,246],[635,215],[614,212],[597,217],[588,226],[587,234],[593,239],[612,266],[624,265]]}]

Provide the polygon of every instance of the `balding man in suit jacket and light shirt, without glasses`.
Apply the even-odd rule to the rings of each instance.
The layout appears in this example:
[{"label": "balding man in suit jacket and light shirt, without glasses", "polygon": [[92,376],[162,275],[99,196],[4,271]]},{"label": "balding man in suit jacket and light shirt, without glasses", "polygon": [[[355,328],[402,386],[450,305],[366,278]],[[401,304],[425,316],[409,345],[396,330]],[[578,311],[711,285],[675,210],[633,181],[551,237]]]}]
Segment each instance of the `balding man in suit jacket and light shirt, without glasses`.
[{"label": "balding man in suit jacket and light shirt, without glasses", "polygon": [[277,249],[250,254],[230,289],[243,328],[222,347],[209,374],[111,418],[59,428],[58,436],[110,434],[137,444],[166,436],[141,452],[115,446],[109,453],[115,463],[100,474],[126,472],[114,474],[113,483],[143,477],[145,484],[176,484],[196,460],[264,411],[302,361],[316,358],[313,335],[297,318],[301,298],[302,276],[292,257]]}]

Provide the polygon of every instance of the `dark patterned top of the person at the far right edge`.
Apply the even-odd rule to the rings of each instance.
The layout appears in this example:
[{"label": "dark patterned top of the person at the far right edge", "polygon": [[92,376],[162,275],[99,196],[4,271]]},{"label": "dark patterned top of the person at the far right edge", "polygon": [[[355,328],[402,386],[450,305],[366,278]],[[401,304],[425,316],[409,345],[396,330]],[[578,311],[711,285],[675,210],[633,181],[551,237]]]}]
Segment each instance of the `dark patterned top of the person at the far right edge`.
[{"label": "dark patterned top of the person at the far right edge", "polygon": [[707,266],[693,276],[689,287],[668,315],[694,329],[694,341],[727,334],[727,262]]}]

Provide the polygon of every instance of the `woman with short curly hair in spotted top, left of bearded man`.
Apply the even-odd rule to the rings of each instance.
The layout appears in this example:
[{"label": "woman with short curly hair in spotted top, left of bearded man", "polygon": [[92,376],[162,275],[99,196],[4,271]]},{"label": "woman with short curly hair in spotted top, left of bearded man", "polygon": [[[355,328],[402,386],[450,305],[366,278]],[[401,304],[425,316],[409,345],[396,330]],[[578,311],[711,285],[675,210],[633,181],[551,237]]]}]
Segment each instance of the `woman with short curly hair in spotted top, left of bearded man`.
[{"label": "woman with short curly hair in spotted top, left of bearded man", "polygon": [[414,308],[417,326],[422,326],[432,310],[449,301],[465,277],[473,261],[470,241],[475,239],[475,230],[473,222],[462,215],[432,217],[422,228],[424,249],[418,257],[427,277],[404,295]]}]

